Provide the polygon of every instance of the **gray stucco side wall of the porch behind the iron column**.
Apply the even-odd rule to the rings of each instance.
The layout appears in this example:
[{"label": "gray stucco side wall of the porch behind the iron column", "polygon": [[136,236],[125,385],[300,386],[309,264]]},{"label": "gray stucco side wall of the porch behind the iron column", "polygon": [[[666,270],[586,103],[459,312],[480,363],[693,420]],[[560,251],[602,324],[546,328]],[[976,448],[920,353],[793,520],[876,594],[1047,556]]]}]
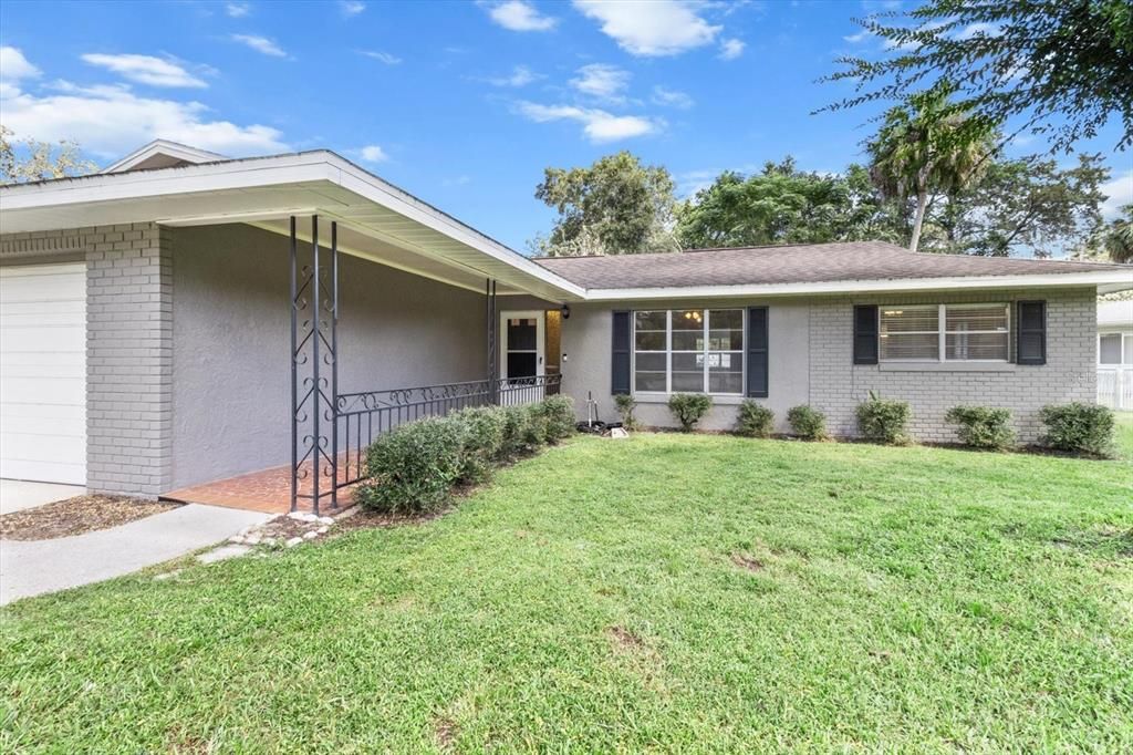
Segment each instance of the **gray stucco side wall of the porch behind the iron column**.
[{"label": "gray stucco side wall of the porch behind the iron column", "polygon": [[[288,240],[178,228],[172,487],[290,460]],[[342,392],[482,380],[482,294],[340,257]]]}]

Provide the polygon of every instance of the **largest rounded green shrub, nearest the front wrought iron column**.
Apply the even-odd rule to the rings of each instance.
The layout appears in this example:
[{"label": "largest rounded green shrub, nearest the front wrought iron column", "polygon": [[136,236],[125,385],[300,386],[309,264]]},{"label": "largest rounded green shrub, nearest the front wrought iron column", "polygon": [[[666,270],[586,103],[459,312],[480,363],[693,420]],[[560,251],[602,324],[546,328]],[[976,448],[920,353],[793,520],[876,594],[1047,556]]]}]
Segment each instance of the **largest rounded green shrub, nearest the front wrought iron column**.
[{"label": "largest rounded green shrub, nearest the front wrought iron column", "polygon": [[369,480],[355,497],[363,508],[384,514],[435,511],[460,478],[463,423],[449,417],[400,425],[366,449]]}]

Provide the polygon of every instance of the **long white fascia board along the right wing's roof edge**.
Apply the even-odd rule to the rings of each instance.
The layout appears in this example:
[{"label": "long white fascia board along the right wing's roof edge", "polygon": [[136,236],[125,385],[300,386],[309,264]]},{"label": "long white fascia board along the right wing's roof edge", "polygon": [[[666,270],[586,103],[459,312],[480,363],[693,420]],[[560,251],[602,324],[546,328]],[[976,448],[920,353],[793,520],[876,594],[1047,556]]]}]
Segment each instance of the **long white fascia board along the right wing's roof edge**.
[{"label": "long white fascia board along the right wing's roof edge", "polygon": [[889,291],[979,290],[991,288],[1065,288],[1106,286],[1111,290],[1133,289],[1133,270],[1099,270],[1037,275],[981,275],[964,278],[910,278],[902,280],[845,280],[817,283],[766,283],[744,286],[692,286],[658,288],[591,288],[587,302],[639,299],[726,299],[821,294],[884,294]]}]

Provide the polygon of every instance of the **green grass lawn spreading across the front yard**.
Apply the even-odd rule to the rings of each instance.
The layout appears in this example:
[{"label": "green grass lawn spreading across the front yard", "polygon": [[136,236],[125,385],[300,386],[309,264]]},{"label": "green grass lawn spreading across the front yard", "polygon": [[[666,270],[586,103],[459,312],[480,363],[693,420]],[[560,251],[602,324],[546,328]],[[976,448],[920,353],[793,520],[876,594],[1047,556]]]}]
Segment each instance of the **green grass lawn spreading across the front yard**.
[{"label": "green grass lawn spreading across the front yard", "polygon": [[424,525],[9,606],[0,752],[1130,752],[1131,501],[1128,461],[580,438]]}]

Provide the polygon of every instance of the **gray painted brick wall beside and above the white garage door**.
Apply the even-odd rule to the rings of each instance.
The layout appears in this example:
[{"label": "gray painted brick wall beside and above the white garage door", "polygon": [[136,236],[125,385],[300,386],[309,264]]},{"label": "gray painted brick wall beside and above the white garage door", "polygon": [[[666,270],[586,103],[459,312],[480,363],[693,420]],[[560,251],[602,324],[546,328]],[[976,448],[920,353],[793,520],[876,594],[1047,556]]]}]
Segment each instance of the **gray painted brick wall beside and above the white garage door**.
[{"label": "gray painted brick wall beside and above the white garage door", "polygon": [[87,487],[155,498],[171,470],[171,235],[133,223],[0,237],[0,262],[76,257],[87,270]]}]

